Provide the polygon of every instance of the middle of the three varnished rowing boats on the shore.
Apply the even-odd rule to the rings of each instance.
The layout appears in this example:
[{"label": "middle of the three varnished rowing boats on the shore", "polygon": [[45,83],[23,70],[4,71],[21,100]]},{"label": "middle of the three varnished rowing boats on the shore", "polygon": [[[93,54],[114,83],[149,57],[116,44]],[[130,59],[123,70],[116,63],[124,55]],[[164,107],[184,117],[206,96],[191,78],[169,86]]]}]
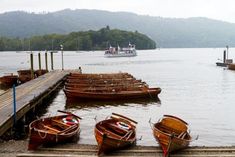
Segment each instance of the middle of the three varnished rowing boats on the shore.
[{"label": "middle of the three varnished rowing boats on the shore", "polygon": [[116,113],[98,122],[94,130],[99,148],[98,155],[134,145],[136,124],[136,121]]}]

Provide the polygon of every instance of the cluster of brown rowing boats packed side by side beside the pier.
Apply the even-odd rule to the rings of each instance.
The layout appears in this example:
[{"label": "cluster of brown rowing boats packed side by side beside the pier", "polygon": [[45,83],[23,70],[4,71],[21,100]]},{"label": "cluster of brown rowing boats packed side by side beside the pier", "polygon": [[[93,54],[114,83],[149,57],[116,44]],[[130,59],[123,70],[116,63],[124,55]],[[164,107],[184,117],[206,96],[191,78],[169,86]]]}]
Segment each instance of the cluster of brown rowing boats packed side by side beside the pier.
[{"label": "cluster of brown rowing boats packed side by side beside the pier", "polygon": [[64,92],[68,99],[123,100],[157,98],[161,88],[149,88],[128,73],[78,74],[68,76]]}]

